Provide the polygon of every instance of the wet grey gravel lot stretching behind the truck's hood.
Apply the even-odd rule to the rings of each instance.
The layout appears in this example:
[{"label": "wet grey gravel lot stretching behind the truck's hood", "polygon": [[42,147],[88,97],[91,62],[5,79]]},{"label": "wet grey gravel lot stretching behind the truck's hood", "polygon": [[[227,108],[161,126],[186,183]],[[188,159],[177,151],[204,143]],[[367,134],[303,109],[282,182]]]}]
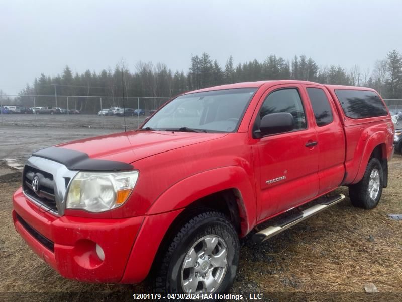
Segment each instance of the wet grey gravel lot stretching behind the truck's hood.
[{"label": "wet grey gravel lot stretching behind the truck's hood", "polygon": [[[124,118],[97,115],[3,115],[0,160],[22,165],[36,150],[76,140],[124,131]],[[137,129],[144,117],[126,117],[126,128]],[[0,175],[2,170],[0,169]]]}]

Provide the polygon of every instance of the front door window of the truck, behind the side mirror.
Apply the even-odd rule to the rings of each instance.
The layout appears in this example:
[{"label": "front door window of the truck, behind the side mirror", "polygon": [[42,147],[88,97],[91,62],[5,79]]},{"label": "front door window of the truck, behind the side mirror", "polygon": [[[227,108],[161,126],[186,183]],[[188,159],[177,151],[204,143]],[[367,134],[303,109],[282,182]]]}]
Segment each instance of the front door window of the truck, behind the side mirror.
[{"label": "front door window of the truck, behind the side mirror", "polygon": [[286,88],[270,93],[260,110],[260,120],[267,114],[288,112],[294,118],[294,130],[306,129],[306,114],[302,99],[295,88]]}]

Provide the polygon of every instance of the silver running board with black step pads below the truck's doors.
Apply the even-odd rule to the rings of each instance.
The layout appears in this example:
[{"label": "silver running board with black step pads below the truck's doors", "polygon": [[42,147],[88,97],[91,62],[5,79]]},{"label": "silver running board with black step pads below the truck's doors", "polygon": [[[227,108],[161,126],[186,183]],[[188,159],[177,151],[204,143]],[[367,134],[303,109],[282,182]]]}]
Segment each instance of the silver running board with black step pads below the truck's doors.
[{"label": "silver running board with black step pads below the truck's doors", "polygon": [[[271,238],[272,236],[275,236],[276,234],[279,234],[284,230],[289,229],[291,226],[313,216],[314,214],[317,214],[325,210],[326,208],[329,208],[330,206],[337,204],[338,202],[341,202],[344,199],[345,195],[343,194],[338,194],[334,197],[319,198],[317,200],[318,203],[316,203],[312,207],[309,207],[296,214],[290,215],[285,219],[280,219],[274,225],[268,226],[268,228],[254,234],[252,240],[257,243],[263,242],[268,238]],[[312,203],[314,203],[314,201]]]}]

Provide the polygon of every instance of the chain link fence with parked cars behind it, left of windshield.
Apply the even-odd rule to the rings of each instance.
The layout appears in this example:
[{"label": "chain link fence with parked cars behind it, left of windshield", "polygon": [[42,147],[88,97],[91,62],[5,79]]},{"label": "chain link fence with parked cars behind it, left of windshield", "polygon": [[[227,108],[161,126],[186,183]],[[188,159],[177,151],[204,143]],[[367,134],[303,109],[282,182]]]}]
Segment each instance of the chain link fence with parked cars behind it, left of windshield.
[{"label": "chain link fence with parked cars behind it, left of windshield", "polygon": [[[137,128],[168,97],[0,96],[2,125],[36,127]],[[113,108],[114,110],[108,110]],[[116,113],[126,108],[125,117]],[[54,110],[51,110],[54,109]],[[120,112],[123,113],[123,110]]]}]

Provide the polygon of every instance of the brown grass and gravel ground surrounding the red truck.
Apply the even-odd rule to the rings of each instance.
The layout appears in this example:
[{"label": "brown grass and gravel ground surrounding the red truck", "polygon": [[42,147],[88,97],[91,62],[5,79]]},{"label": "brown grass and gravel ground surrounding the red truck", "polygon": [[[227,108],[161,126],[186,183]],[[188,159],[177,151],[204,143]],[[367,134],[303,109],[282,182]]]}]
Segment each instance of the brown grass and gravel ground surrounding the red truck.
[{"label": "brown grass and gravel ground surrounding the red truck", "polygon": [[[0,171],[10,170],[0,175],[0,300],[112,301],[149,293],[146,282],[87,284],[60,277],[19,237],[11,218],[20,172],[5,166],[6,158],[23,163],[35,149],[117,128],[0,128],[3,138],[9,138],[0,141]],[[347,196],[347,188],[339,192]],[[402,214],[401,199],[402,156],[395,154],[389,163],[389,186],[375,209],[354,208],[347,198],[263,244],[243,239],[231,294],[244,299],[249,293],[264,293],[266,301],[402,300],[402,221],[387,216]],[[365,293],[366,283],[375,284],[379,293]]]}]

